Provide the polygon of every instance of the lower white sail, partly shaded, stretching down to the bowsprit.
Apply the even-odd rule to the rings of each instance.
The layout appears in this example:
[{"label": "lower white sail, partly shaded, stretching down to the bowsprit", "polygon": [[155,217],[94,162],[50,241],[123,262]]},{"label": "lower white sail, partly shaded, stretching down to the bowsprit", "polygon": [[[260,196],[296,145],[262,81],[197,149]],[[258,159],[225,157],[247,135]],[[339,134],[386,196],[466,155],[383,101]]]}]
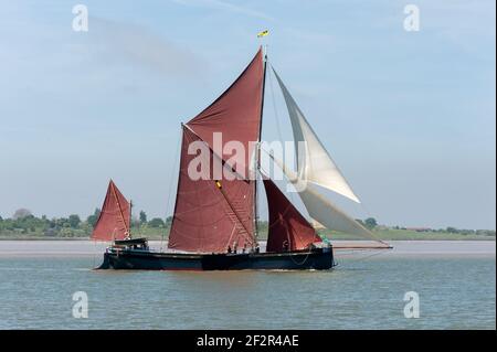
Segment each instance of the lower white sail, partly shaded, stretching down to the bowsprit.
[{"label": "lower white sail, partly shaded, stretching down to the bowsprit", "polygon": [[[297,173],[289,170],[281,160],[274,157],[272,157],[272,159],[276,164],[278,164],[279,168],[282,168],[283,172],[293,184],[303,182],[300,179],[298,179]],[[307,182],[305,186],[299,184],[296,189],[310,217],[313,217],[327,228],[378,241],[368,228],[351,218],[338,206],[319,194],[315,185]]]}]

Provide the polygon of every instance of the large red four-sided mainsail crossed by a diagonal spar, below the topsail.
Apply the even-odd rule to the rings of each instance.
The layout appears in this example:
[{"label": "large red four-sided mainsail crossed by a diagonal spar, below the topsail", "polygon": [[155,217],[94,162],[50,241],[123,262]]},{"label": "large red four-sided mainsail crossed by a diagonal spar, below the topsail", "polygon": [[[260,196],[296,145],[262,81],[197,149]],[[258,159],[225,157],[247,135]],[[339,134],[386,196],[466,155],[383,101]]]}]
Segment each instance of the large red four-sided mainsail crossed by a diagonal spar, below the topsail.
[{"label": "large red four-sided mainsail crossed by a diagonal spar, below the topsail", "polygon": [[[208,152],[189,154],[192,142],[200,142]],[[213,178],[213,159],[218,158],[208,145],[188,127],[183,127],[181,161],[175,217],[169,234],[169,248],[198,253],[225,253],[236,246],[248,249],[253,245],[253,181],[237,180],[224,163],[224,175],[233,180]],[[208,168],[197,179],[189,174],[189,166],[202,162]],[[219,160],[219,159],[218,159]],[[221,161],[220,161],[221,162]],[[221,162],[222,163],[222,162]]]}]

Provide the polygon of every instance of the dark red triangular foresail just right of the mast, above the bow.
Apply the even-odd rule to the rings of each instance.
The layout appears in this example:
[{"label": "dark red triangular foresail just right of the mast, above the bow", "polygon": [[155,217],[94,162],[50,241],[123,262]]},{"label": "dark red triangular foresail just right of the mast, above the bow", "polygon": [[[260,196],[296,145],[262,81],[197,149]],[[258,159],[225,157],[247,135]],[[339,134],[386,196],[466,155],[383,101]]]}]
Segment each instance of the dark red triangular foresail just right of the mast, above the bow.
[{"label": "dark red triangular foresail just right of the mast, above the bow", "polygon": [[321,242],[313,226],[273,181],[265,179],[264,188],[269,209],[267,252],[305,249],[311,243]]}]

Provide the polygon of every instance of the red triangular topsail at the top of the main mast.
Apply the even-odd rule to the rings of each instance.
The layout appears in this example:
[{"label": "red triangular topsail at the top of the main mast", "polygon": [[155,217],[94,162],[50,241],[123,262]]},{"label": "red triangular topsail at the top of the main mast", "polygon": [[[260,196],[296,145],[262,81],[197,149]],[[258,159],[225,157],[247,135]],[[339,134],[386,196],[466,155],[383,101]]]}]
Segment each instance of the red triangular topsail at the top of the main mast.
[{"label": "red triangular topsail at the top of the main mast", "polygon": [[216,150],[214,132],[222,134],[222,147],[229,141],[241,142],[245,148],[244,164],[231,167],[235,167],[245,178],[248,178],[248,163],[254,149],[250,142],[258,141],[260,137],[264,81],[262,55],[260,49],[239,78],[214,103],[187,124],[223,160],[228,160],[230,154]]}]

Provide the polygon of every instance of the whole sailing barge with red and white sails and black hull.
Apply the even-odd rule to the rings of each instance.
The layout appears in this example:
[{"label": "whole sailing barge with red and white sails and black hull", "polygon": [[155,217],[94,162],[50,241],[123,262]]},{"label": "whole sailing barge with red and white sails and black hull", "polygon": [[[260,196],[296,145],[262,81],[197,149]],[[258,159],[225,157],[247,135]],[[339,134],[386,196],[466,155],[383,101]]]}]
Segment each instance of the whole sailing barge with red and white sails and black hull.
[{"label": "whole sailing barge with red and white sails and black hull", "polygon": [[[266,71],[267,55],[260,49],[216,100],[181,125],[179,180],[168,252],[152,250],[146,238],[131,237],[131,204],[110,181],[92,235],[96,241],[113,242],[99,269],[320,270],[334,267],[331,244],[320,238],[315,227],[261,171]],[[359,202],[274,68],[273,72],[288,108],[297,170],[272,157],[273,161],[296,185],[314,222],[329,230],[371,237],[360,223],[319,194],[316,185]],[[221,134],[223,141],[236,141],[244,148],[242,161],[233,162],[232,150],[226,153],[223,145],[218,148],[216,134]],[[207,152],[198,146],[205,147]],[[221,174],[211,170],[214,168],[201,168],[200,177],[192,177],[191,166],[199,161],[202,166],[220,163]],[[268,205],[265,252],[261,252],[257,241],[257,180],[261,179]]]}]

